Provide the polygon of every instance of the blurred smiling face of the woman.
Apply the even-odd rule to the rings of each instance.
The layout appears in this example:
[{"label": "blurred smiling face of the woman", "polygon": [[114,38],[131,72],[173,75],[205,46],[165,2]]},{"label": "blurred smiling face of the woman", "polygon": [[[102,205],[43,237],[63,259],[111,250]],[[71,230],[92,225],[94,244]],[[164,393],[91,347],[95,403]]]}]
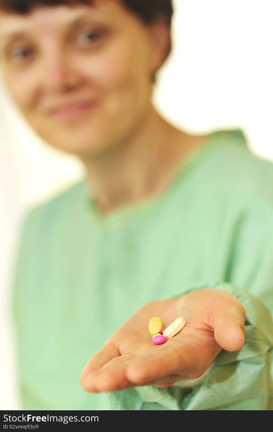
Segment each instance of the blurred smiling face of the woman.
[{"label": "blurred smiling face of the woman", "polygon": [[145,117],[157,46],[152,28],[118,0],[0,12],[11,97],[43,140],[79,156],[108,151]]}]

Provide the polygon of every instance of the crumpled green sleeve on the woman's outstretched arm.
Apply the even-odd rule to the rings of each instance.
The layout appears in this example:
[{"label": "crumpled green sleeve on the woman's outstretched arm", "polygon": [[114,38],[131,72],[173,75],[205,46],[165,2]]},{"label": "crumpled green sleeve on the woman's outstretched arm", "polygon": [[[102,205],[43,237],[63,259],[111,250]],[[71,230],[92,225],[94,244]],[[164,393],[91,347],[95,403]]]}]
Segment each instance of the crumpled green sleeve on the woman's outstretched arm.
[{"label": "crumpled green sleeve on the woman's outstretched arm", "polygon": [[236,227],[228,282],[208,281],[179,294],[212,288],[235,295],[247,316],[244,346],[222,350],[202,380],[183,380],[195,385],[113,392],[111,409],[273,410],[273,204],[255,202]]}]

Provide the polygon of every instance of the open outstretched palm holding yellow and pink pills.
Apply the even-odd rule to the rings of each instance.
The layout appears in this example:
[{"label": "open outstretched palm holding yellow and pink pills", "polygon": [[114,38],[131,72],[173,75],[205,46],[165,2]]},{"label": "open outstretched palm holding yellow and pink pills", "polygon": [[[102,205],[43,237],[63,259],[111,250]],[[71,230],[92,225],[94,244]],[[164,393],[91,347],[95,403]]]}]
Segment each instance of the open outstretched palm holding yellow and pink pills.
[{"label": "open outstretched palm holding yellow and pink pills", "polygon": [[[161,317],[164,327],[178,317],[187,323],[174,337],[154,345],[148,323],[155,316]],[[241,302],[218,289],[148,303],[89,359],[80,382],[86,391],[97,393],[150,384],[165,388],[181,378],[198,378],[221,349],[241,349],[245,319]]]}]

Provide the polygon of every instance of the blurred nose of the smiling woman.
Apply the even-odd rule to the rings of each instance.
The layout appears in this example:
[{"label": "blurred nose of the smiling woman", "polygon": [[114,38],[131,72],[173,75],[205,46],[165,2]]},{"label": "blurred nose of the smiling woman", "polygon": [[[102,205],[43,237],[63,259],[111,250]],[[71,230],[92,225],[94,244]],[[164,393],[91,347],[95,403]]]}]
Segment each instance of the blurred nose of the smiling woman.
[{"label": "blurred nose of the smiling woman", "polygon": [[44,56],[43,87],[47,91],[72,89],[82,81],[81,74],[71,59],[61,49],[51,50]]}]

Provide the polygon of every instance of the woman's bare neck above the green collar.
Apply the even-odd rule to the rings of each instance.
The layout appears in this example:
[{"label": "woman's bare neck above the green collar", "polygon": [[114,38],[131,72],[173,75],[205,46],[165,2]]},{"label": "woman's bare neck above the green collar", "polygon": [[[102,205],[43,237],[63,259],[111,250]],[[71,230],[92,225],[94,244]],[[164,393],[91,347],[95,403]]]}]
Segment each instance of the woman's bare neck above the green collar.
[{"label": "woman's bare neck above the green collar", "polygon": [[190,147],[189,136],[151,108],[123,143],[96,157],[81,158],[98,208],[106,213],[164,190]]}]

